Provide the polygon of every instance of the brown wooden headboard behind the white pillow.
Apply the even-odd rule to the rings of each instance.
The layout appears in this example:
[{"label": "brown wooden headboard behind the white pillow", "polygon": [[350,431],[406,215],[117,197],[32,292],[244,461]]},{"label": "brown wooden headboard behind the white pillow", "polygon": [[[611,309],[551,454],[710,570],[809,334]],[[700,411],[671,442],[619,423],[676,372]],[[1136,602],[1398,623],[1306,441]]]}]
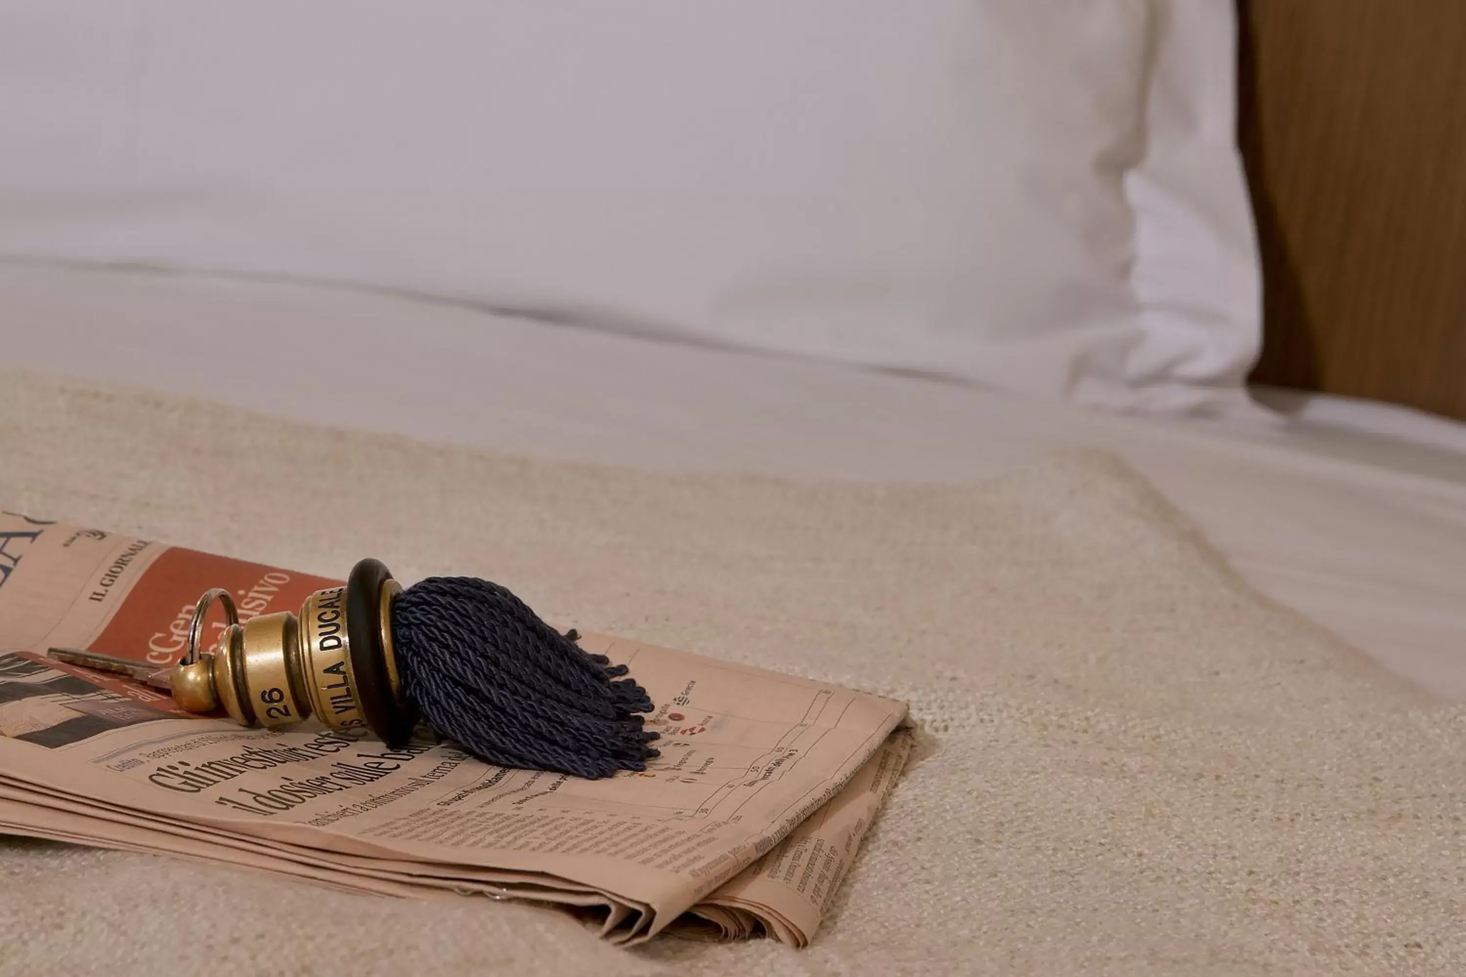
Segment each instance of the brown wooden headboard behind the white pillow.
[{"label": "brown wooden headboard behind the white pillow", "polygon": [[1253,381],[1466,417],[1466,0],[1239,0]]}]

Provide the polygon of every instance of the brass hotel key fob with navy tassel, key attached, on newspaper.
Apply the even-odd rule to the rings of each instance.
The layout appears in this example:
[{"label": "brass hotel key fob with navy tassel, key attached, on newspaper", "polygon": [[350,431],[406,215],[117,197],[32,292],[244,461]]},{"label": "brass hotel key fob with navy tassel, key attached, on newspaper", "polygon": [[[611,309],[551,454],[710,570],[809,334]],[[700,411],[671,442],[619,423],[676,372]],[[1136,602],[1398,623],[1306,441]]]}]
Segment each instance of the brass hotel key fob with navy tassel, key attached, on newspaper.
[{"label": "brass hotel key fob with navy tassel, key attached, on newspaper", "polygon": [[91,650],[50,653],[166,688],[177,712],[227,713],[242,727],[318,719],[342,740],[372,734],[397,750],[422,718],[481,760],[586,779],[644,772],[660,756],[651,743],[661,732],[645,728],[655,706],[629,665],[581,649],[579,636],[491,580],[430,577],[403,590],[368,558],[295,612],[255,606],[271,612],[240,615],[227,590],[205,592],[186,650],[166,671]]}]

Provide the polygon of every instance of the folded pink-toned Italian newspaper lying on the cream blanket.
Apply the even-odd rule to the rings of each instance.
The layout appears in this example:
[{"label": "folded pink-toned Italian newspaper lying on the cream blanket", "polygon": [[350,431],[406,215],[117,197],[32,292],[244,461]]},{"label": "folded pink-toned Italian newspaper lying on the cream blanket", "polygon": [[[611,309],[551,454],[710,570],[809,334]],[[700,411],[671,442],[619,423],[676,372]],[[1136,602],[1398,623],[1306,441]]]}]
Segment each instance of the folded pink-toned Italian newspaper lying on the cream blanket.
[{"label": "folded pink-toned Italian newspaper lying on the cream blanket", "polygon": [[207,587],[245,620],[336,584],[0,514],[0,832],[559,904],[614,942],[803,946],[910,747],[903,703],[600,634],[582,647],[633,665],[663,734],[645,772],[601,781],[493,766],[425,731],[390,750],[312,724],[246,729],[45,656],[164,668]]}]

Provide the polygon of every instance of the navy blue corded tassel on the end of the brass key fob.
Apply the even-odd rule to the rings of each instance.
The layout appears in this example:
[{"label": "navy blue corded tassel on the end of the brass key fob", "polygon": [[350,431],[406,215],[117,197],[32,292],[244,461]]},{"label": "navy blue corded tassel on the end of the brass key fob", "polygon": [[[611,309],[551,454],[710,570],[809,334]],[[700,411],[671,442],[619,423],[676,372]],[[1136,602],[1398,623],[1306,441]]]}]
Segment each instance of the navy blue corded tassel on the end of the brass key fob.
[{"label": "navy blue corded tassel on the end of the brass key fob", "polygon": [[658,756],[647,690],[589,655],[513,593],[475,577],[430,577],[391,603],[403,694],[441,735],[498,763],[589,779]]}]

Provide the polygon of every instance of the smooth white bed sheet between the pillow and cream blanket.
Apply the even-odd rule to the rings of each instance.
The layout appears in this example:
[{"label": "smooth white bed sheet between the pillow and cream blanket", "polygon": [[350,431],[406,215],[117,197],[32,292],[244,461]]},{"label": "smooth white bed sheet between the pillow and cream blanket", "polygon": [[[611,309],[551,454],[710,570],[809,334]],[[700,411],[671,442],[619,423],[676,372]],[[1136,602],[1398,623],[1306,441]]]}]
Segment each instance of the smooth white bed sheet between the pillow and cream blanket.
[{"label": "smooth white bed sheet between the pillow and cream blanket", "polygon": [[1080,412],[408,296],[0,265],[7,368],[554,458],[951,480],[1114,450],[1258,589],[1466,700],[1466,425],[1270,393],[1258,420]]}]

